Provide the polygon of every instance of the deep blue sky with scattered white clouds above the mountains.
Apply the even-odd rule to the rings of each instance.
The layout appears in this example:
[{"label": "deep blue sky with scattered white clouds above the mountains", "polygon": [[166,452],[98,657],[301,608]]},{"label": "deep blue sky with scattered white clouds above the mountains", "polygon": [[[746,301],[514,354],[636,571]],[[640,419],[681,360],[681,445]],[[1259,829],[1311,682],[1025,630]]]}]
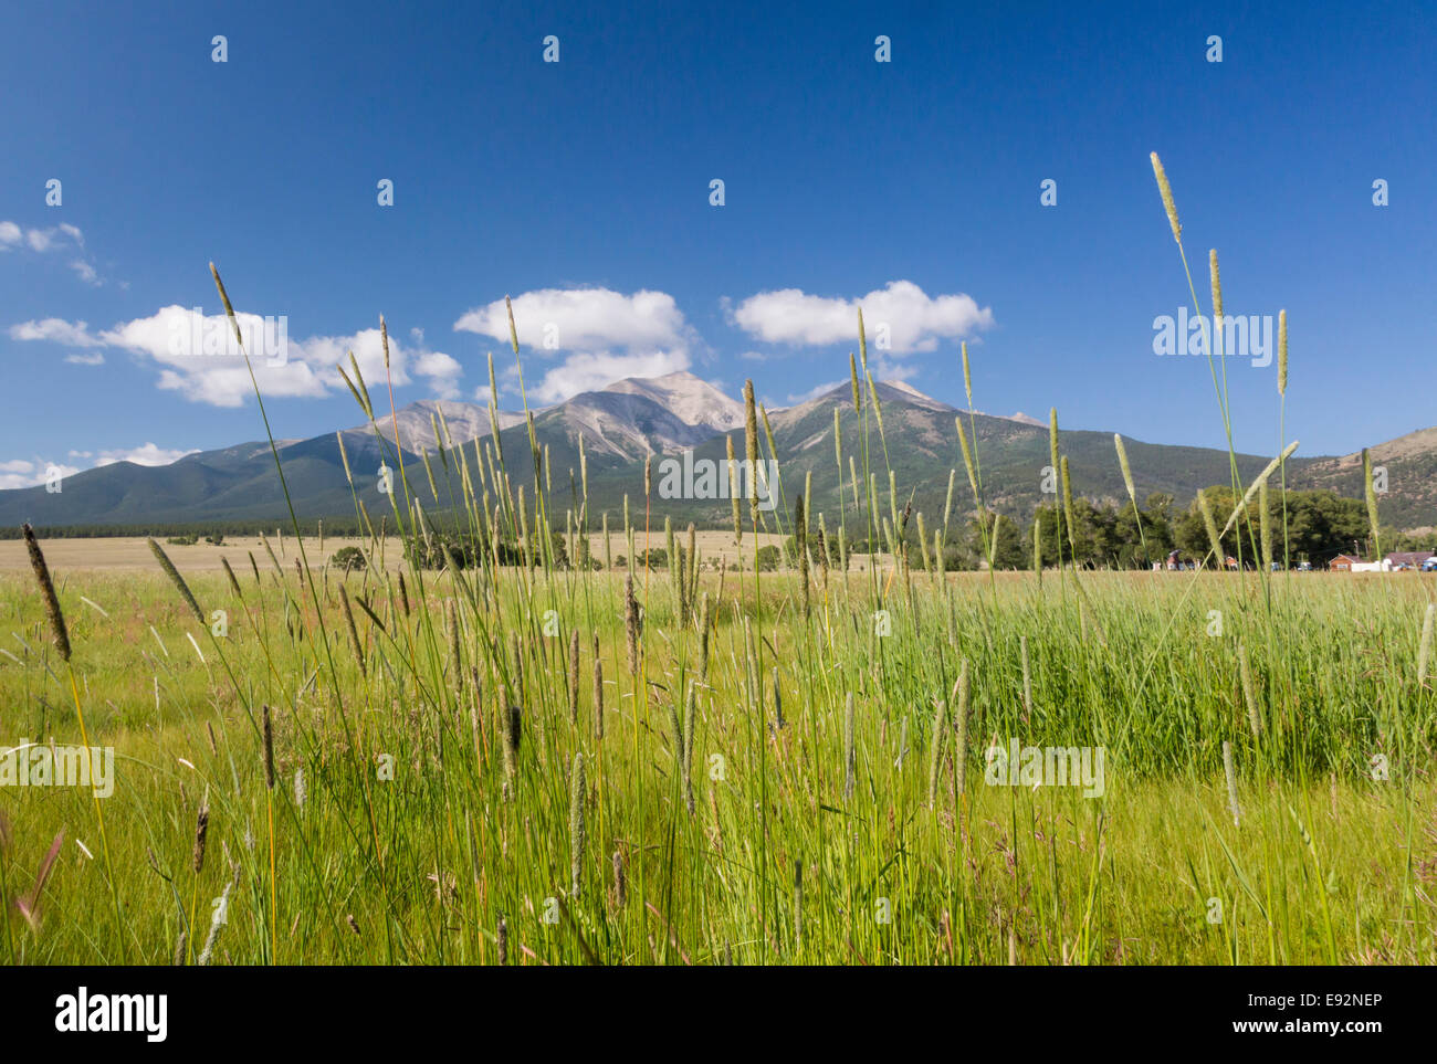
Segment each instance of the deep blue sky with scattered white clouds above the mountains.
[{"label": "deep blue sky with scattered white clouds above the mountains", "polygon": [[[1152,350],[1187,302],[1154,149],[1204,306],[1217,247],[1229,313],[1289,312],[1303,454],[1437,422],[1430,7],[447,7],[10,10],[0,485],[263,435],[233,359],[165,349],[220,313],[211,258],[286,319],[280,437],[358,422],[331,366],[378,365],[379,313],[397,402],[474,398],[493,350],[516,406],[507,293],[536,401],[687,368],[783,405],[846,376],[862,300],[881,375],[961,403],[969,339],[980,409],[1221,447],[1206,359]],[[1270,454],[1252,362],[1234,438]]]}]

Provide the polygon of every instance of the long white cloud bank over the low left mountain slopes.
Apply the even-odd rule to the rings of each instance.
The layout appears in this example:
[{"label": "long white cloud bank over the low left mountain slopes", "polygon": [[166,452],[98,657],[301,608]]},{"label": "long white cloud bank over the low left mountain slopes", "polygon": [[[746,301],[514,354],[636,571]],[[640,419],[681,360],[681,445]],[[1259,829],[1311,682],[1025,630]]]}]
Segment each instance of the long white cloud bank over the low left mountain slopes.
[{"label": "long white cloud bank over the low left mountain slopes", "polygon": [[[109,347],[125,350],[142,363],[158,369],[157,385],[191,402],[211,406],[241,406],[254,395],[254,382],[266,398],[320,398],[348,391],[338,365],[348,368],[349,352],[359,363],[366,382],[384,381],[384,343],[378,329],[362,329],[348,336],[289,336],[289,322],[282,314],[237,313],[244,349],[224,314],[205,314],[198,307],[161,307],[148,317],[121,322],[92,333],[85,322],[45,319],[22,322],[9,329],[17,340],[47,340],[69,347]],[[244,350],[250,365],[244,363]],[[70,360],[98,365],[99,352],[70,356]],[[412,376],[411,376],[412,375]],[[401,343],[389,336],[389,376],[402,386],[415,376],[425,379],[440,398],[458,395],[460,363],[443,352]]]}]

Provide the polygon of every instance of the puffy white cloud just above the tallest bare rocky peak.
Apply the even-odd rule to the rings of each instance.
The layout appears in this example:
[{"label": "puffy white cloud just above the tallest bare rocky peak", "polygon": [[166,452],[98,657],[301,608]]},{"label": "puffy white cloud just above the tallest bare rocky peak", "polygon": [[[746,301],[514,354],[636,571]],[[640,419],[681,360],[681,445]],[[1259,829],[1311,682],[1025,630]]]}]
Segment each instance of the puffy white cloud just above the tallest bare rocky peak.
[{"label": "puffy white cloud just above the tallest bare rocky peak", "polygon": [[[632,294],[612,289],[539,289],[512,300],[522,347],[558,358],[530,393],[558,402],[627,376],[658,376],[688,369],[697,335],[667,291]],[[503,300],[463,314],[457,332],[509,342]],[[509,376],[513,376],[512,373]],[[476,392],[487,398],[487,389]]]}]

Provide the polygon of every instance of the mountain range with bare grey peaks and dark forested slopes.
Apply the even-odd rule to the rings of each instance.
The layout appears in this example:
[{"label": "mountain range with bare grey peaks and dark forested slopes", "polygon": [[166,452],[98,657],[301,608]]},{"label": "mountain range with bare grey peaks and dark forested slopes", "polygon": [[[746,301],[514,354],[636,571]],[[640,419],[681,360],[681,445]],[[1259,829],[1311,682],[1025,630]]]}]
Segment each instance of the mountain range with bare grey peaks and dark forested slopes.
[{"label": "mountain range with bare grey peaks and dark forested slopes", "polygon": [[[865,389],[867,391],[867,389]],[[915,511],[941,514],[950,470],[957,470],[954,505],[970,508],[970,493],[958,454],[953,419],[960,414],[902,382],[879,382],[875,392],[882,409],[882,434],[868,414],[868,468],[879,472],[879,497],[887,495],[887,470],[892,468],[901,493],[911,493]],[[865,395],[865,402],[868,396]],[[841,385],[808,402],[769,411],[769,426],[780,461],[782,488],[787,505],[812,477],[810,513],[839,508],[839,474],[835,464],[833,411],[839,412],[845,480],[852,457],[864,468],[862,425],[854,411],[849,385]],[[964,424],[970,415],[961,412]],[[638,511],[644,507],[642,464],[645,457],[675,455],[691,449],[694,461],[723,462],[724,438],[734,437],[736,452],[744,452],[743,403],[693,373],[660,378],[629,378],[604,389],[582,392],[553,406],[536,409],[535,439],[549,455],[550,507],[569,505],[569,475],[579,480],[579,441],[588,464],[589,511],[608,511],[616,520],[624,495]],[[395,437],[395,422],[398,437]],[[523,412],[499,411],[499,438],[506,467],[514,484],[532,485],[529,429]],[[375,425],[339,429],[309,439],[277,441],[290,498],[302,518],[355,517],[354,495],[345,474],[345,459],[355,490],[365,498],[375,520],[388,507],[376,507],[378,470],[384,449],[378,429],[391,444],[395,438],[411,488],[424,485],[428,495],[422,454],[440,485],[458,494],[453,464],[440,457],[438,442],[467,448],[474,461],[476,441],[491,434],[489,408],[479,403],[421,401]],[[445,435],[447,431],[447,435]],[[762,432],[762,429],[760,429]],[[1048,425],[1022,414],[971,415],[984,495],[1000,513],[1026,521],[1043,501],[1040,477],[1049,465]],[[1127,500],[1111,432],[1062,429],[1059,445],[1069,457],[1075,494],[1092,500]],[[341,454],[339,439],[343,439]],[[1129,465],[1138,498],[1150,493],[1171,494],[1187,505],[1194,493],[1211,484],[1229,484],[1226,451],[1171,447],[1127,439]],[[480,448],[483,444],[480,444]],[[887,452],[887,454],[885,454]],[[1437,428],[1421,429],[1371,448],[1374,465],[1384,465],[1388,491],[1382,495],[1384,524],[1398,528],[1437,524]],[[445,455],[448,457],[448,455]],[[1270,455],[1239,455],[1239,472],[1250,480]],[[655,488],[658,482],[655,464]],[[445,484],[447,481],[447,484]],[[1295,457],[1288,464],[1289,488],[1331,488],[1338,494],[1362,495],[1361,454]],[[532,490],[532,488],[530,488]],[[846,505],[852,505],[846,495]],[[714,500],[650,500],[651,520],[665,515],[675,521],[697,521],[700,527],[723,526],[730,520],[727,497]],[[274,455],[263,441],[190,454],[171,465],[145,467],[115,462],[73,474],[59,493],[43,485],[0,491],[0,526],[30,521],[37,527],[76,526],[201,526],[205,521],[287,521],[287,507],[276,475]],[[560,520],[562,524],[562,520]]]}]

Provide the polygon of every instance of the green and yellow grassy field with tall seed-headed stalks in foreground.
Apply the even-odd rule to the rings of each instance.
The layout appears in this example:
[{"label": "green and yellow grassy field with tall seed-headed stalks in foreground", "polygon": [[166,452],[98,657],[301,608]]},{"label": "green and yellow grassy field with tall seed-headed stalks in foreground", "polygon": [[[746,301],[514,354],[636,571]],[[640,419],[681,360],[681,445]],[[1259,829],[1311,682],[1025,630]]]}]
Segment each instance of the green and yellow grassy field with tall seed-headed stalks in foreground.
[{"label": "green and yellow grassy field with tall seed-headed stalks in foreground", "polygon": [[[1430,579],[912,571],[879,636],[868,574],[815,573],[805,620],[796,574],[680,616],[641,571],[635,673],[618,576],[411,570],[405,612],[352,574],[356,653],[338,576],[241,573],[191,580],[223,638],[158,566],[57,573],[116,784],[0,788],[4,956],[194,963],[230,885],[211,963],[1437,959]],[[0,587],[6,744],[79,745],[40,593]],[[1104,795],[987,783],[1010,738],[1104,747]]]}]

